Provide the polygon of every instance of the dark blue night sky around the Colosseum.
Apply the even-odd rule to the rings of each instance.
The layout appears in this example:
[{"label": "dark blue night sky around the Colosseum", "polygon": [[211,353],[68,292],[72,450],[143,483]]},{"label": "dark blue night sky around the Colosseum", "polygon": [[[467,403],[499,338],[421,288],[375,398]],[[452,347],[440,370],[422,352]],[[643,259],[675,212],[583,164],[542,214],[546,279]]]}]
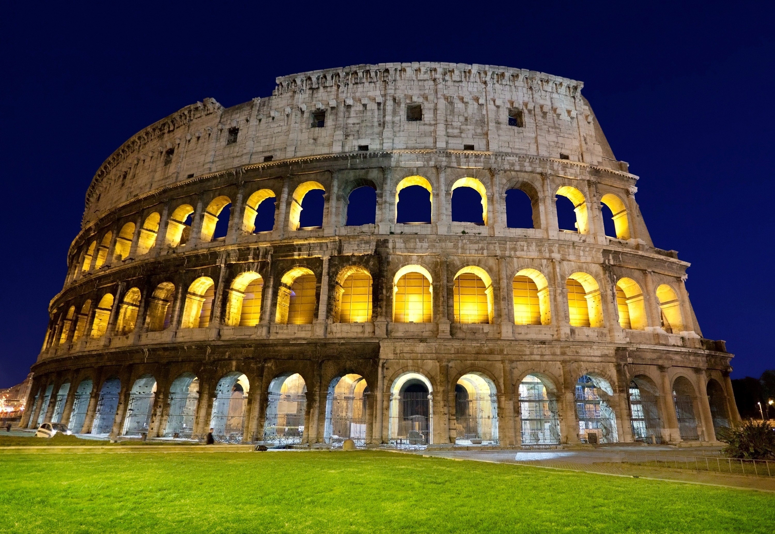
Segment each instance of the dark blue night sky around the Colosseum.
[{"label": "dark blue night sky around the Colosseum", "polygon": [[268,96],[284,74],[421,60],[584,81],[654,244],[692,264],[704,336],[727,341],[733,377],[758,377],[775,367],[775,5],[735,4],[5,5],[0,388],[35,361],[86,188],[129,136],[205,97]]}]

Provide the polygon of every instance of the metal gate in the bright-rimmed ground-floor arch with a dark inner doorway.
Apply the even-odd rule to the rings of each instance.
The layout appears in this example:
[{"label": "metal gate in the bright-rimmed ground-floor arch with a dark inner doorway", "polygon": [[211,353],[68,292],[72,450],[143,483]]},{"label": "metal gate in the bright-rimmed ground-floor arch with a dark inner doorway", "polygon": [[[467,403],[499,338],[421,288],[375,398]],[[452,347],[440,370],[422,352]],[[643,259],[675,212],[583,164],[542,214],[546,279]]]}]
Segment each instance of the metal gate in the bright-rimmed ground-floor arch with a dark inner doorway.
[{"label": "metal gate in the bright-rimmed ground-floor arch with a dark inner doorway", "polygon": [[422,391],[391,394],[389,436],[398,447],[431,443],[433,395]]}]

